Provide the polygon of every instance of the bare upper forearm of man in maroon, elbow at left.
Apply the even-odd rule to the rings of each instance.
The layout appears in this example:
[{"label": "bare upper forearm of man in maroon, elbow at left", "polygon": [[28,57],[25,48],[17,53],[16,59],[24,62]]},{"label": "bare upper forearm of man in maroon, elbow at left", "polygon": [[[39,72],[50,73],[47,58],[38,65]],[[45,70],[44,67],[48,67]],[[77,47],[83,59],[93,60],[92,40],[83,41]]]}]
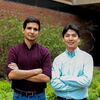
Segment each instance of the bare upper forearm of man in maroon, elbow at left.
[{"label": "bare upper forearm of man in maroon, elbow at left", "polygon": [[8,77],[9,79],[16,79],[16,80],[21,80],[21,79],[26,79],[28,77],[37,75],[42,73],[41,69],[33,69],[33,70],[12,70],[9,74]]}]

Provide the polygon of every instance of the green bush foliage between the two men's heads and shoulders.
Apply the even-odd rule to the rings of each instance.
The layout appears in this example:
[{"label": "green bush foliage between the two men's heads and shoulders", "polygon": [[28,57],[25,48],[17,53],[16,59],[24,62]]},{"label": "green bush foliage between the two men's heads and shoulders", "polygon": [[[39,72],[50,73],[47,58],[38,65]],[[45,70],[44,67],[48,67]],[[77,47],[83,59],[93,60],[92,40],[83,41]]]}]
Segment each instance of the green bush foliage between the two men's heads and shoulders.
[{"label": "green bush foliage between the two men's heads and shoulders", "polygon": [[44,25],[42,26],[38,42],[41,45],[49,48],[52,60],[65,50],[65,45],[62,42],[62,27],[60,25]]}]

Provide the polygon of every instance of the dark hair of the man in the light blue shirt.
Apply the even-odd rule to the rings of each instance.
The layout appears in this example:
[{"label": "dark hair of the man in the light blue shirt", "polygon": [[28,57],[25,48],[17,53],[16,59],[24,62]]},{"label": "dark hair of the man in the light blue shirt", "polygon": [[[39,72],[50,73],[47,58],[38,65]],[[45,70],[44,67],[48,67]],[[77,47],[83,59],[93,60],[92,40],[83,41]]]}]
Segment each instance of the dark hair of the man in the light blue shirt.
[{"label": "dark hair of the man in the light blue shirt", "polygon": [[80,37],[79,28],[77,26],[75,26],[75,25],[67,25],[67,26],[65,26],[64,29],[63,29],[63,32],[62,32],[62,36],[63,37],[64,37],[64,35],[66,34],[66,32],[69,29],[74,30],[77,33],[78,37]]}]

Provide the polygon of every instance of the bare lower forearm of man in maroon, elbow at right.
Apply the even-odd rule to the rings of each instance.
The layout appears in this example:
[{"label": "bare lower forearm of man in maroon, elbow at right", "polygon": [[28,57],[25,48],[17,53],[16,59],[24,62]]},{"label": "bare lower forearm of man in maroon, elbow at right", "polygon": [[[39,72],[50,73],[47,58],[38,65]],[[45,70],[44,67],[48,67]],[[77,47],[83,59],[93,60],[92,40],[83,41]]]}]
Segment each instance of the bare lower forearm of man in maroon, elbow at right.
[{"label": "bare lower forearm of man in maroon, elbow at right", "polygon": [[49,82],[50,78],[45,74],[38,74],[29,78],[26,78],[25,80],[32,81],[32,82]]}]

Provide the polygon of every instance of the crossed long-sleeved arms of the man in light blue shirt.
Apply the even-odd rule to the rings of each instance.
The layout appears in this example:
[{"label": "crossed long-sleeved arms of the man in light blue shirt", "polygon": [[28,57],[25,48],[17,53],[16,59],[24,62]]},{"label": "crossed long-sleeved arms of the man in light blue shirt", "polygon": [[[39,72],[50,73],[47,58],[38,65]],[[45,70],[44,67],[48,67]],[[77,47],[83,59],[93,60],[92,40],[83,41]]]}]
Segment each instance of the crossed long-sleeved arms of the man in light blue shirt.
[{"label": "crossed long-sleeved arms of the man in light blue shirt", "polygon": [[93,60],[86,59],[84,63],[83,74],[80,76],[67,75],[61,76],[61,69],[58,63],[53,63],[51,85],[57,91],[75,91],[88,87],[93,76]]}]

